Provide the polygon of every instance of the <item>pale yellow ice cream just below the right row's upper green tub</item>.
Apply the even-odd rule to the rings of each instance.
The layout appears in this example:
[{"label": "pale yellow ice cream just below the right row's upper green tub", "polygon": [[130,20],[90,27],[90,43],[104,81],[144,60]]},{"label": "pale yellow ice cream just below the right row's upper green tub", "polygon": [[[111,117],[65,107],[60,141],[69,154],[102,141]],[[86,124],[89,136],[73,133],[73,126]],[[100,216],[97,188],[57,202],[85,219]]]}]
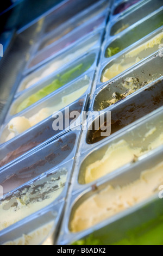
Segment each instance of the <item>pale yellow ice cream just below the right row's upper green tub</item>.
[{"label": "pale yellow ice cream just below the right row's upper green tub", "polygon": [[[140,62],[143,58],[149,56],[155,51],[154,46],[160,45],[163,39],[163,32],[155,35],[152,39],[149,39],[147,42],[143,43],[140,46],[137,46],[134,50],[124,54],[123,58],[120,60],[120,63],[114,63],[110,66],[110,68],[104,71],[102,75],[102,82],[107,82],[111,78],[119,75],[121,72],[129,69],[131,66],[135,65],[136,63]],[[148,51],[151,49],[151,51]],[[143,58],[141,54],[143,52]],[[135,60],[130,61],[130,58],[135,58]]]}]

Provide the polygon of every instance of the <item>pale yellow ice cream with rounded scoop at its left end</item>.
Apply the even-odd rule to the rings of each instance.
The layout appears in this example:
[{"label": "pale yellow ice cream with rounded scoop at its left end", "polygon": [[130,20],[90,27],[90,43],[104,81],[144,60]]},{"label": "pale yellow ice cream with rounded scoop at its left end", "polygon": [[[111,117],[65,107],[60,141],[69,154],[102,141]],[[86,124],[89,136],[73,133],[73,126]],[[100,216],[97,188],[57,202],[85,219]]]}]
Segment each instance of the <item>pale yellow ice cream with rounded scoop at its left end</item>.
[{"label": "pale yellow ice cream with rounded scoop at its left end", "polygon": [[25,117],[16,117],[11,119],[11,121],[8,124],[9,135],[5,139],[5,142],[9,141],[10,139],[14,138],[20,133],[28,130],[30,127],[40,123],[42,120],[48,118],[60,109],[70,105],[72,102],[76,101],[80,96],[82,96],[86,92],[88,87],[89,84],[76,90],[73,93],[63,96],[59,104],[54,105],[53,107],[42,108],[38,113],[34,114],[29,119]]}]

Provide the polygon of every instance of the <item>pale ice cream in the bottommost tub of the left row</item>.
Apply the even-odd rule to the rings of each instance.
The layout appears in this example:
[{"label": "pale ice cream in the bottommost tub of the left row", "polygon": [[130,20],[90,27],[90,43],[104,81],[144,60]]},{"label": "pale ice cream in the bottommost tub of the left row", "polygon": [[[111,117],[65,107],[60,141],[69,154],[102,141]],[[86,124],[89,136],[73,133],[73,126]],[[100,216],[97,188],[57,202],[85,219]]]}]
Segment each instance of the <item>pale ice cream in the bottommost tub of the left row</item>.
[{"label": "pale ice cream in the bottommost tub of the left row", "polygon": [[3,245],[40,245],[51,232],[53,226],[54,222],[48,223],[27,235],[23,234],[22,237],[14,241],[6,242]]}]

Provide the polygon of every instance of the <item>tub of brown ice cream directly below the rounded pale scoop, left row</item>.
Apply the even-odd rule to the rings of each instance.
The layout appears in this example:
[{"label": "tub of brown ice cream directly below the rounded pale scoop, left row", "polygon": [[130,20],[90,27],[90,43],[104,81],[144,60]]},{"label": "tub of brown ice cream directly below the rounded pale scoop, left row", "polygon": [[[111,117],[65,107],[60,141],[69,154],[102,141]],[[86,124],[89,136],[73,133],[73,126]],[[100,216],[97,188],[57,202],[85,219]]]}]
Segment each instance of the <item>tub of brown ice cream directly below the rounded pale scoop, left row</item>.
[{"label": "tub of brown ice cream directly below the rounded pale scoop, left row", "polygon": [[[35,150],[43,147],[43,145],[46,145],[64,135],[66,132],[70,131],[70,125],[73,125],[73,128],[80,125],[80,122],[82,121],[81,115],[76,119],[76,117],[71,116],[71,113],[82,113],[82,111],[85,110],[87,100],[88,95],[84,98],[80,98],[67,108],[62,109],[61,112],[57,112],[55,116],[45,119],[31,129],[24,131],[20,135],[12,138],[10,141],[2,144],[0,147],[0,170],[9,166],[11,163],[20,160],[22,157],[26,157],[28,154],[33,153]],[[54,129],[55,127],[53,127],[53,124],[55,125],[56,120],[63,121],[63,127],[61,128],[64,130]],[[2,138],[5,136],[8,136],[7,129],[2,129]]]}]

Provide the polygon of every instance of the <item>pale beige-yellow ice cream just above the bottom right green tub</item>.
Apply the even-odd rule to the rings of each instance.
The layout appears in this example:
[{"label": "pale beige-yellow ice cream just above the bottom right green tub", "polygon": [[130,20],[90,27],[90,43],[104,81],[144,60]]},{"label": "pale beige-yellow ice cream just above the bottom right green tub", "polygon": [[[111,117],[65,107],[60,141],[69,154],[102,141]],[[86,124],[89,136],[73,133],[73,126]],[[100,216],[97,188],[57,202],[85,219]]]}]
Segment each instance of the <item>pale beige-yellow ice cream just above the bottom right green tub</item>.
[{"label": "pale beige-yellow ice cream just above the bottom right green tub", "polygon": [[143,202],[159,192],[163,184],[163,162],[142,172],[140,179],[123,187],[110,185],[80,204],[70,223],[71,231],[78,232]]}]

